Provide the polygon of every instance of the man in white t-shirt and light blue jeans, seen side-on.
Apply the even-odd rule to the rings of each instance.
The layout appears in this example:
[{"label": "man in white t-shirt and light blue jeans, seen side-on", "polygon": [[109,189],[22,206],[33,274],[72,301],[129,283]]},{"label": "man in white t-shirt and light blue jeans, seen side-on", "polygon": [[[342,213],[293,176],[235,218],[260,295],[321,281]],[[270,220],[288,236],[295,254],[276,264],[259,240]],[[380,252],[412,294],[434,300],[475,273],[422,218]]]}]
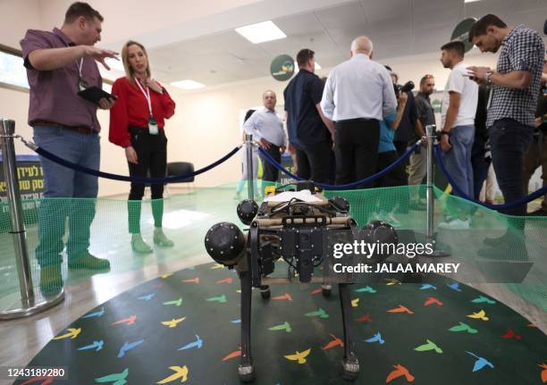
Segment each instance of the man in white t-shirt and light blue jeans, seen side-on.
[{"label": "man in white t-shirt and light blue jeans, seen side-on", "polygon": [[[463,62],[465,46],[461,41],[451,41],[442,46],[441,50],[441,63],[444,68],[451,70],[442,95],[441,148],[444,163],[463,193],[473,197],[471,152],[475,138],[478,86],[467,75],[467,65]],[[455,195],[454,191],[452,194]],[[468,229],[467,214],[452,210],[448,221],[439,223],[439,228]]]}]

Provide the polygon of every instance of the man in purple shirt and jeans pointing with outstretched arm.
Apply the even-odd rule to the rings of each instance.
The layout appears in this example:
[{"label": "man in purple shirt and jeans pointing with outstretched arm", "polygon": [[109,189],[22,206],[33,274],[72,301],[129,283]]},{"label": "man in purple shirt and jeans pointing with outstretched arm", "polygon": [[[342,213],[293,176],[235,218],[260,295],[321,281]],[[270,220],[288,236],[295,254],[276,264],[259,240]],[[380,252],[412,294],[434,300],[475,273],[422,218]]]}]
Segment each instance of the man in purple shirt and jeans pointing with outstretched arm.
[{"label": "man in purple shirt and jeans pointing with outstretched arm", "polygon": [[[74,3],[63,27],[52,32],[29,29],[21,40],[30,86],[29,125],[36,144],[69,162],[97,170],[100,143],[97,105],[78,96],[81,89],[102,87],[97,62],[105,65],[112,51],[94,47],[101,38],[103,17],[89,4]],[[108,67],[105,65],[108,69]],[[109,109],[114,100],[103,98],[98,107]],[[36,257],[40,289],[53,295],[63,287],[64,223],[70,236],[66,245],[69,269],[108,270],[110,263],[88,253],[89,227],[95,216],[97,177],[74,172],[40,157],[44,171],[44,201],[38,213]],[[88,198],[65,199],[50,198]]]}]

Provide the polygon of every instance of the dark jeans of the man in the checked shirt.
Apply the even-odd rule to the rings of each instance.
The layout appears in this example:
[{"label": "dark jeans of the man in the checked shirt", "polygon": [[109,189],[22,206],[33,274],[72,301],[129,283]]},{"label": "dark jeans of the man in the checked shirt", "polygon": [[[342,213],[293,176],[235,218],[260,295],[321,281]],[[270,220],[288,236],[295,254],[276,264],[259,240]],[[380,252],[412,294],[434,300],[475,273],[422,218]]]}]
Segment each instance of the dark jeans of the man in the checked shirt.
[{"label": "dark jeans of the man in the checked shirt", "polygon": [[[492,164],[505,203],[525,197],[523,184],[524,154],[534,128],[512,119],[494,121],[489,128]],[[508,215],[526,215],[526,204],[503,210]]]}]

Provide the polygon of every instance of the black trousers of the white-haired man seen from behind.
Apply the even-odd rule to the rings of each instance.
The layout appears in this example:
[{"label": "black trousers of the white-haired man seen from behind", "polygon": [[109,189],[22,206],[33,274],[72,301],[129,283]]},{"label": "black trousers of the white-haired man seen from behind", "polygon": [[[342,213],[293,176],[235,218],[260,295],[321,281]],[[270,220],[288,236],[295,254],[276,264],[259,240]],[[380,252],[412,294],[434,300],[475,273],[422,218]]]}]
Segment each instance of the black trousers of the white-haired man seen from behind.
[{"label": "black trousers of the white-haired man seen from behind", "polygon": [[[378,167],[380,121],[355,119],[336,122],[336,184],[342,185],[374,175]],[[373,183],[357,188],[370,188]]]}]

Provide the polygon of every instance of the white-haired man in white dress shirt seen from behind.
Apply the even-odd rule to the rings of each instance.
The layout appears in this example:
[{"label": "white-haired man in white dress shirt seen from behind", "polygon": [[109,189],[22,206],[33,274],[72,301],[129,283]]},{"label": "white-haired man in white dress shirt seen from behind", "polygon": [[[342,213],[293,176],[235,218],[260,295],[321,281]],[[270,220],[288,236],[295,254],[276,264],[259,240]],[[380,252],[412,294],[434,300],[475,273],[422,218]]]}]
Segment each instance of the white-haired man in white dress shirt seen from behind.
[{"label": "white-haired man in white dress shirt seen from behind", "polygon": [[351,58],[331,71],[324,86],[321,108],[336,122],[337,185],[376,172],[380,121],[397,107],[390,72],[373,62],[372,55],[372,41],[365,36],[356,38],[351,43]]}]

